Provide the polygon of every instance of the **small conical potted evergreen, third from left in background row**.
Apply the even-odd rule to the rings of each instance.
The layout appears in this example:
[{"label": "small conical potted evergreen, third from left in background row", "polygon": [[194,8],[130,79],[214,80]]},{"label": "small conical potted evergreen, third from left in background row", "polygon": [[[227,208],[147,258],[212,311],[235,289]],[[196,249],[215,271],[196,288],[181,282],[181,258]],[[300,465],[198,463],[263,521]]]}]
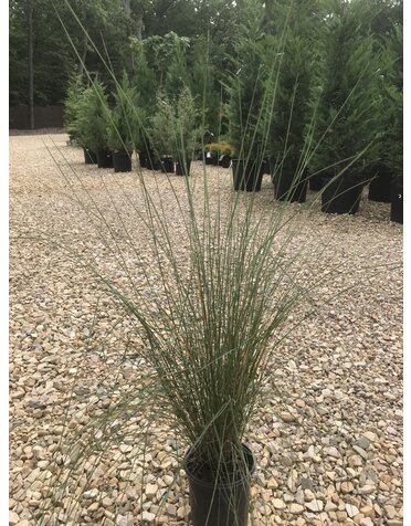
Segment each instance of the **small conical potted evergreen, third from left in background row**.
[{"label": "small conical potted evergreen, third from left in background row", "polygon": [[130,86],[126,72],[123,74],[122,85],[117,86],[113,95],[116,105],[110,112],[107,144],[113,151],[114,171],[130,171],[131,154],[139,144],[141,114],[136,90]]}]

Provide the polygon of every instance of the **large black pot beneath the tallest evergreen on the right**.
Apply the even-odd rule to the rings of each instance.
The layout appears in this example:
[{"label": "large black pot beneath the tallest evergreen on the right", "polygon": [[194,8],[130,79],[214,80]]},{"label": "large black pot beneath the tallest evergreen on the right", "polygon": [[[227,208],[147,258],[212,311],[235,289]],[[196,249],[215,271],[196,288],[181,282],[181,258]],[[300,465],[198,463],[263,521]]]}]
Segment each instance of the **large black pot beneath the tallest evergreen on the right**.
[{"label": "large black pot beneath the tallest evergreen on the right", "polygon": [[357,213],[363,183],[349,176],[323,177],[322,212]]}]

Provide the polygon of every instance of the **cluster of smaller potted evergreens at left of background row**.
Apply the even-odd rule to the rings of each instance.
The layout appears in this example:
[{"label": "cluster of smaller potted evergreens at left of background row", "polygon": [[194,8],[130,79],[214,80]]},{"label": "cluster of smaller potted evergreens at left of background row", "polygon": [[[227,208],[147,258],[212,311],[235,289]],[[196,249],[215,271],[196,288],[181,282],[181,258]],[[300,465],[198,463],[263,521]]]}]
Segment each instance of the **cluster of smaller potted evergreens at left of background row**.
[{"label": "cluster of smaller potted evergreens at left of background row", "polygon": [[75,78],[68,91],[66,129],[83,146],[85,162],[130,171],[136,151],[141,167],[173,172],[176,161],[176,173],[189,175],[199,137],[190,90],[185,86],[172,101],[159,93],[152,116],[139,106],[126,73],[110,95],[113,104],[97,78],[88,87]]}]

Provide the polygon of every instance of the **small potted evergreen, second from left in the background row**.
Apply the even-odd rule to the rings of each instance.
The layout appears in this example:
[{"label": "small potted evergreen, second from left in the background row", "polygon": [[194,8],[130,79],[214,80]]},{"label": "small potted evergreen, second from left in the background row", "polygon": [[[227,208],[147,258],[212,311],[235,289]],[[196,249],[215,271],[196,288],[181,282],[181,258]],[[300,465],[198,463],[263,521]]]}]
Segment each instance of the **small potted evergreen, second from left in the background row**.
[{"label": "small potted evergreen, second from left in the background row", "polygon": [[98,168],[113,168],[113,157],[107,144],[109,126],[107,94],[98,80],[93,81],[84,91],[77,122],[82,144],[96,152]]}]

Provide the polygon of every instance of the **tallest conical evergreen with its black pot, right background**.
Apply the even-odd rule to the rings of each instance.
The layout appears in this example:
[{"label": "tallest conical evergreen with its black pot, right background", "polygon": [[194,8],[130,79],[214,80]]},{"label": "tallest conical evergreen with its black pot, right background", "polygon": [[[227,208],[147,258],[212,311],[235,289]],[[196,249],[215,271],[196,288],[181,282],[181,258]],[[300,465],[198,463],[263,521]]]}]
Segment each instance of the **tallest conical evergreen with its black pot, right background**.
[{"label": "tallest conical evergreen with its black pot, right background", "polygon": [[356,213],[378,134],[378,61],[371,35],[359,32],[361,20],[348,3],[335,3],[327,20],[326,55],[320,80],[316,135],[310,169],[323,176],[322,210]]}]

